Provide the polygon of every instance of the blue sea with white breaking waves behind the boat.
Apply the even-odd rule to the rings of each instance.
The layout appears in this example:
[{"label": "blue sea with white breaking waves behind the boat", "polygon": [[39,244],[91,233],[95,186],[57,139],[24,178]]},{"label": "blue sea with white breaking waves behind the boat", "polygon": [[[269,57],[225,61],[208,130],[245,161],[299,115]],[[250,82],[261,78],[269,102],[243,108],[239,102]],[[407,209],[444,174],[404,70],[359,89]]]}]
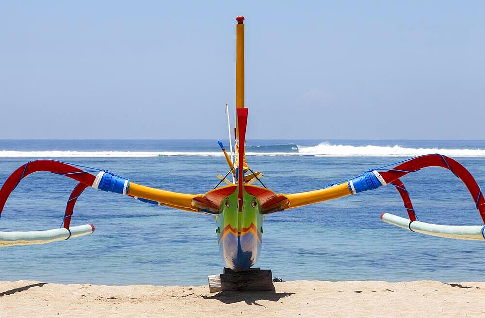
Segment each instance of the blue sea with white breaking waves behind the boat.
[{"label": "blue sea with white breaking waves behind the boat", "polygon": [[[226,148],[229,149],[227,141]],[[425,153],[461,162],[485,186],[483,140],[249,140],[247,162],[276,193],[325,187]],[[0,185],[29,160],[58,159],[109,169],[133,182],[205,193],[228,170],[217,140],[0,140]],[[449,171],[426,168],[402,179],[421,221],[483,224],[466,187]],[[8,199],[0,230],[61,225],[76,182],[39,172]],[[435,238],[383,223],[405,216],[392,186],[266,217],[258,267],[283,280],[476,281],[485,274],[485,242]],[[145,204],[88,188],[71,225],[89,236],[1,248],[1,279],[104,285],[204,285],[221,273],[214,218]]]}]

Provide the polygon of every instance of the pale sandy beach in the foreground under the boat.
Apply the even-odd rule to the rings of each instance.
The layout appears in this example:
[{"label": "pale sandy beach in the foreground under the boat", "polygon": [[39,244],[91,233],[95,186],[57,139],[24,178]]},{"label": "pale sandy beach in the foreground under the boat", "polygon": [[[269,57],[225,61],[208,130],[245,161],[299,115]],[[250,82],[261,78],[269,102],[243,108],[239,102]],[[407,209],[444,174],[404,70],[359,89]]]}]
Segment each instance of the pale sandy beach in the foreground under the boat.
[{"label": "pale sandy beach in the foreground under the boat", "polygon": [[485,317],[485,282],[293,281],[273,292],[207,286],[0,283],[1,318]]}]

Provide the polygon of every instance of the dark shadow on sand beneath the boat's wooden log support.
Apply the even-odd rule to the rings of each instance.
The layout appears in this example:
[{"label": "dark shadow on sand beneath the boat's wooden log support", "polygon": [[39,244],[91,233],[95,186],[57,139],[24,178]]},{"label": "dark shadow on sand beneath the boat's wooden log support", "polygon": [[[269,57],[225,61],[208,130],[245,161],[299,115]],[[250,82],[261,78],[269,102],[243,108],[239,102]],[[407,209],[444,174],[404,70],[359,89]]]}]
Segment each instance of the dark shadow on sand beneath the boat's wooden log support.
[{"label": "dark shadow on sand beneath the boat's wooden log support", "polygon": [[[212,296],[202,296],[204,299],[217,299],[223,303],[246,302],[248,305],[263,306],[256,303],[259,300],[277,302],[281,298],[291,296],[294,293],[277,293],[272,291],[221,291]],[[264,307],[264,306],[263,306]]]}]

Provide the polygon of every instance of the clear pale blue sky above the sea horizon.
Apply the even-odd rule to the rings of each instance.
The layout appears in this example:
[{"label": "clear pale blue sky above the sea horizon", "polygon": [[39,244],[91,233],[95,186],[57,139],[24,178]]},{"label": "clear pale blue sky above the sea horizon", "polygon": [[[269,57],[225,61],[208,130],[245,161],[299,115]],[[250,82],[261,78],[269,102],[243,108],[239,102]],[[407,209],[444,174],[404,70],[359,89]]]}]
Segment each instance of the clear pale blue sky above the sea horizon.
[{"label": "clear pale blue sky above the sea horizon", "polygon": [[[1,1],[0,138],[485,139],[485,1]],[[234,112],[232,113],[234,114]]]}]

